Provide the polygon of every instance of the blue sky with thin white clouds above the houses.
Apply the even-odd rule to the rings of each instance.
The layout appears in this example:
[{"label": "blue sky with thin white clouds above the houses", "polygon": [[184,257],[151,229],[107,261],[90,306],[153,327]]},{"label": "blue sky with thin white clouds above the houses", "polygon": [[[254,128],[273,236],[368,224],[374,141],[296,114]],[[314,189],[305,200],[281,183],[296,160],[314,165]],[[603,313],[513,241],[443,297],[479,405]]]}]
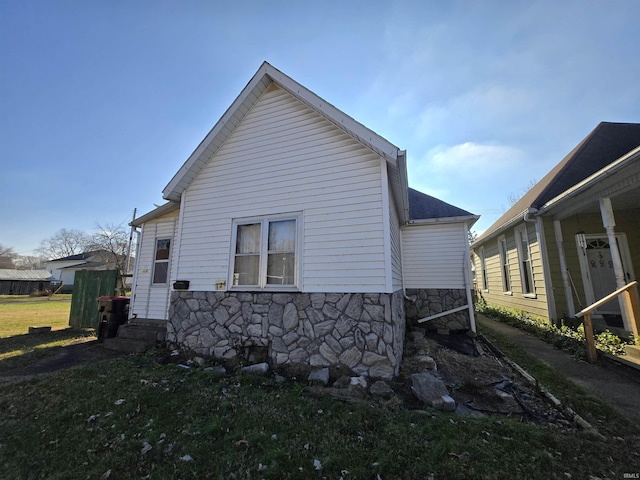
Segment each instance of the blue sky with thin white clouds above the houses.
[{"label": "blue sky with thin white clouds above the houses", "polygon": [[0,0],[0,244],[163,203],[264,60],[482,231],[600,121],[640,121],[638,18],[636,0]]}]

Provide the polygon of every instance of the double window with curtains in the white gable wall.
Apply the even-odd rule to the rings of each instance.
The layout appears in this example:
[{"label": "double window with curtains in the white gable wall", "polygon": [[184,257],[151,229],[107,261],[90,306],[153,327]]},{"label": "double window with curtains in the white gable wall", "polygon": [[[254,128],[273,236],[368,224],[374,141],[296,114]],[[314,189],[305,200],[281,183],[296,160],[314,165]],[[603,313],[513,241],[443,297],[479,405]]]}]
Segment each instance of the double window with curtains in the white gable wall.
[{"label": "double window with curtains in the white gable wall", "polygon": [[233,222],[232,288],[295,288],[299,215]]}]

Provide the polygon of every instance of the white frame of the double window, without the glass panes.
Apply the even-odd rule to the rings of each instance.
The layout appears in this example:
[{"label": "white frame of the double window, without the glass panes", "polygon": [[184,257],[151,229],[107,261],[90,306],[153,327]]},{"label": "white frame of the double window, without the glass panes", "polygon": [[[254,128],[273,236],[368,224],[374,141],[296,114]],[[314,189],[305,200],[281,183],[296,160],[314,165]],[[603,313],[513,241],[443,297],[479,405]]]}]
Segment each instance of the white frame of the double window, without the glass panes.
[{"label": "white frame of the double window, without the glass panes", "polygon": [[[286,220],[294,220],[296,222],[295,227],[295,247],[294,247],[294,283],[291,285],[276,285],[267,283],[267,260],[268,260],[268,240],[269,240],[269,224],[271,222],[279,222]],[[234,269],[236,260],[236,241],[238,236],[238,227],[242,225],[260,224],[260,259],[259,259],[259,273],[257,285],[235,285],[234,282]],[[245,217],[235,218],[232,220],[231,225],[231,244],[229,251],[229,277],[228,283],[229,290],[237,291],[300,291],[301,278],[302,278],[302,213],[287,213],[276,215],[263,215],[259,217]]]}]

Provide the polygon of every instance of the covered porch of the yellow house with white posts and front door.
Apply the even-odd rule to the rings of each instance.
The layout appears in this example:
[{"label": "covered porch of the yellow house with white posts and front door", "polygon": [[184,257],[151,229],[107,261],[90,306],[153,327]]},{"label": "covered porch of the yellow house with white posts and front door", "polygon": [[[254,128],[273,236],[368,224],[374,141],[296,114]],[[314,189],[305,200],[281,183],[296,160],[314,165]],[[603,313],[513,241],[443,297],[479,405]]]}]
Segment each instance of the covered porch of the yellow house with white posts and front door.
[{"label": "covered porch of the yellow house with white posts and front door", "polygon": [[[576,312],[636,280],[640,268],[640,148],[587,177],[536,212],[543,217],[554,318]],[[619,300],[593,316],[594,327],[634,331]]]}]

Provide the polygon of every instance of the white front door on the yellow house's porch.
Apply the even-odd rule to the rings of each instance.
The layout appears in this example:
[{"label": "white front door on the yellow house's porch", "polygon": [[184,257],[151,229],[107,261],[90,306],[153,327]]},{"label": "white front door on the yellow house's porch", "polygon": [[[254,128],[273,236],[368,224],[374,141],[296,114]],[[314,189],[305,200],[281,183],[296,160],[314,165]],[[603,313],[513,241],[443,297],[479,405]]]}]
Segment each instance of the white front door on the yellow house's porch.
[{"label": "white front door on the yellow house's porch", "polygon": [[[629,244],[624,233],[615,234],[622,260],[625,282],[632,281],[633,265]],[[616,276],[611,259],[609,237],[606,234],[577,234],[576,244],[587,305],[617,290]],[[598,315],[620,315],[620,302],[611,301],[595,310]]]}]

